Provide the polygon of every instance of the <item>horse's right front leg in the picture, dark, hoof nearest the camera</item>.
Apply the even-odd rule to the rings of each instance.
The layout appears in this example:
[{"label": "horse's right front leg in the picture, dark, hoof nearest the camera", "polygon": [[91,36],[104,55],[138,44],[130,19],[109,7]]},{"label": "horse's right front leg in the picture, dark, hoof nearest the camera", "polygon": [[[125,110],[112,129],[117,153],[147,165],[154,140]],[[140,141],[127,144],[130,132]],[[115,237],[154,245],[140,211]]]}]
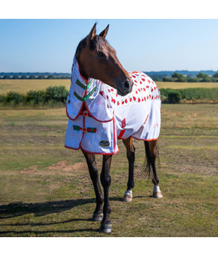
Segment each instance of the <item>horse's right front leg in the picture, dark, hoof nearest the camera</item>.
[{"label": "horse's right front leg in the picture, dark, hoof nearest the camera", "polygon": [[112,231],[111,219],[109,218],[109,215],[111,214],[111,206],[109,203],[109,188],[111,185],[111,175],[110,175],[111,160],[112,160],[111,154],[104,155],[101,176],[100,176],[101,184],[104,187],[104,207],[103,207],[104,217],[103,217],[103,220],[101,221],[101,227],[99,229],[99,232],[102,232],[102,233],[110,233]]}]

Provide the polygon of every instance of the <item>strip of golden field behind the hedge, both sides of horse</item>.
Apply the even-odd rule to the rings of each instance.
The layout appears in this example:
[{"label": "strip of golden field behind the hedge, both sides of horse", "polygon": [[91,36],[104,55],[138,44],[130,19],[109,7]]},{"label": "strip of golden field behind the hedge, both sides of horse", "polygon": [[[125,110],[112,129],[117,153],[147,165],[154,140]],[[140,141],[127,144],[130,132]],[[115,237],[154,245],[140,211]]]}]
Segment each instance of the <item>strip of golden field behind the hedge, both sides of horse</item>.
[{"label": "strip of golden field behind the hedge, both sides of horse", "polygon": [[[218,87],[218,83],[171,83],[171,82],[156,82],[160,88],[172,88],[172,89],[183,89],[183,88],[195,88],[205,87],[212,88]],[[67,90],[70,89],[71,81],[69,79],[31,79],[31,80],[20,80],[20,79],[6,79],[0,80],[0,95],[5,94],[11,90],[15,90],[19,93],[26,93],[29,90],[42,90],[50,86],[64,85]]]}]

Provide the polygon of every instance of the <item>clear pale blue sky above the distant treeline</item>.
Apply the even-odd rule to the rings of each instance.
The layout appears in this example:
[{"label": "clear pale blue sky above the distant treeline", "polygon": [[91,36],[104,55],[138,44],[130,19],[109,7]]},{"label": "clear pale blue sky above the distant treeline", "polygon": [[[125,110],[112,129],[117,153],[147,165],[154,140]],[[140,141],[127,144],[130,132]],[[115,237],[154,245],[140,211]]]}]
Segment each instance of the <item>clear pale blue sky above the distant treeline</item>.
[{"label": "clear pale blue sky above the distant treeline", "polygon": [[98,21],[127,71],[218,70],[218,20],[0,20],[0,72],[71,72]]}]

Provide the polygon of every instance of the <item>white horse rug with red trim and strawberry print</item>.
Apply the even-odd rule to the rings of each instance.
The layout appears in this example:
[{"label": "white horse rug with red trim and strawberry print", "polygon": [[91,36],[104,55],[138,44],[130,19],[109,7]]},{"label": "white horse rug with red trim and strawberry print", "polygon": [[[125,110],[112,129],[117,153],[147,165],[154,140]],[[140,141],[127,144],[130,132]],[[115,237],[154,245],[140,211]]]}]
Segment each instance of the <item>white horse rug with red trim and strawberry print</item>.
[{"label": "white horse rug with red trim and strawberry print", "polygon": [[[117,154],[117,139],[130,136],[155,140],[160,131],[160,92],[143,72],[130,72],[132,92],[119,96],[117,90],[99,80],[80,75],[77,60],[71,69],[67,98],[68,127],[65,147],[92,154]],[[82,111],[83,106],[86,111]]]}]

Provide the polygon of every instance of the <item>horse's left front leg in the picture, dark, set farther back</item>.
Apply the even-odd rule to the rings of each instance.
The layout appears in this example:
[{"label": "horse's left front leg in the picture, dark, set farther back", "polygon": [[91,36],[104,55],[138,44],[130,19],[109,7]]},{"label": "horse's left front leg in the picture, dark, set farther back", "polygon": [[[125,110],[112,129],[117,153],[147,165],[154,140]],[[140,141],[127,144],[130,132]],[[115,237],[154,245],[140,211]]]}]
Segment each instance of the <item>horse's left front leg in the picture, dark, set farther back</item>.
[{"label": "horse's left front leg in the picture, dark, set farther back", "polygon": [[103,219],[102,204],[103,204],[104,198],[101,192],[95,154],[89,154],[83,151],[83,155],[86,157],[86,162],[89,168],[89,175],[90,175],[90,178],[92,179],[92,184],[94,186],[95,198],[96,198],[96,208],[95,208],[95,212],[92,215],[91,220],[101,221]]}]

